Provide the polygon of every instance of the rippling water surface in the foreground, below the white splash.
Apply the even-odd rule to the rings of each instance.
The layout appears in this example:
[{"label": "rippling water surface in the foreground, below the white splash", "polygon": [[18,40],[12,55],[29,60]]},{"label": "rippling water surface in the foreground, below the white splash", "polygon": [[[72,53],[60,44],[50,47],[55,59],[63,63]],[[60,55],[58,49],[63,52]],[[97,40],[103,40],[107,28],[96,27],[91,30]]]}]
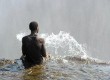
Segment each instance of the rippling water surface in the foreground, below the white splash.
[{"label": "rippling water surface in the foreground, below the white splash", "polygon": [[[68,61],[68,62],[67,62]],[[16,69],[15,69],[16,68]],[[82,60],[51,59],[28,70],[18,65],[4,67],[1,80],[110,80],[109,64],[87,63]]]}]

